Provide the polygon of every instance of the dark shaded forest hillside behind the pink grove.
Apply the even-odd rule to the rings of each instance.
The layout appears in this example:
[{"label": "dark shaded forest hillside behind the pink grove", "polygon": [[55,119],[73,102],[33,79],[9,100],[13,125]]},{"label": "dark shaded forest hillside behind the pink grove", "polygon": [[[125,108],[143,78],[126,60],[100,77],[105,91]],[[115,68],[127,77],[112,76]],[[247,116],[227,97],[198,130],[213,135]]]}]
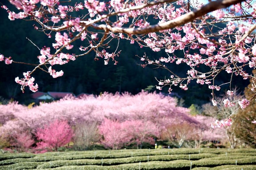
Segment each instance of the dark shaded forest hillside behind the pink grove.
[{"label": "dark shaded forest hillside behind the pink grove", "polygon": [[[52,38],[48,38],[43,32],[34,29],[33,24],[35,23],[33,21],[20,19],[11,21],[8,19],[8,13],[2,8],[0,9],[0,15],[0,54],[3,54],[5,57],[11,56],[14,61],[18,62],[39,63],[37,56],[40,55],[40,51],[28,39],[39,48],[44,46],[51,47],[54,42],[55,33],[52,33]],[[78,48],[82,45],[81,43],[85,42],[79,40],[72,43],[74,48],[68,52],[70,54],[79,54],[80,50]],[[111,41],[109,45],[111,48],[108,48],[107,51],[115,51],[117,40]],[[136,94],[150,85],[153,88],[148,89],[155,91],[155,85],[158,84],[155,77],[164,79],[170,76],[167,70],[155,69],[154,66],[142,68],[138,65],[141,64],[141,61],[136,55],[143,56],[146,53],[152,58],[159,56],[166,57],[167,55],[164,50],[156,53],[150,48],[140,48],[138,44],[130,44],[130,41],[125,40],[120,40],[118,50],[122,51],[120,56],[116,58],[118,61],[117,65],[114,65],[114,62],[104,65],[104,60],[101,58],[98,61],[94,61],[95,53],[92,52],[68,64],[62,66],[54,65],[53,68],[56,71],[64,71],[64,75],[59,78],[52,78],[52,76],[44,71],[37,70],[33,74],[33,77],[36,78],[35,83],[39,85],[38,90],[42,92],[73,92],[76,95],[82,92],[98,95],[105,91],[112,93],[127,91]],[[193,53],[193,51],[190,52]],[[169,67],[176,73],[186,76],[186,71],[184,71],[186,70],[184,69],[186,67],[185,64],[178,66],[176,64],[170,64]],[[28,104],[30,102],[29,96],[32,92],[27,88],[25,93],[22,93],[20,85],[16,84],[14,79],[15,77],[23,77],[22,73],[32,70],[33,67],[16,63],[5,65],[4,62],[1,62],[0,68],[0,96],[5,99],[13,98],[20,103]],[[224,73],[219,76],[216,82],[219,82],[219,84],[227,82],[228,78]],[[243,90],[249,84],[249,81],[236,78],[232,81],[232,84]],[[167,88],[161,92],[167,93]],[[222,88],[222,93],[223,90]],[[157,92],[160,91],[157,90]],[[201,105],[210,101],[211,92],[208,86],[199,85],[196,82],[192,82],[187,91],[174,88],[172,92],[173,95],[183,98],[186,106],[190,106],[193,103]]]}]

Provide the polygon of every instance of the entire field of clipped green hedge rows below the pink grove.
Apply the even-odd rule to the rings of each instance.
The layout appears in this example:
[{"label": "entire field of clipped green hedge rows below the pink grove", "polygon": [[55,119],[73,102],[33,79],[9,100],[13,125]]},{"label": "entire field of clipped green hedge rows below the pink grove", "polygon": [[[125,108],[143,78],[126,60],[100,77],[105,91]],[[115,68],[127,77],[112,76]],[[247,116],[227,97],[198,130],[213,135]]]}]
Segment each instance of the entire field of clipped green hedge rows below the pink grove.
[{"label": "entire field of clipped green hedge rows below the pink grove", "polygon": [[126,149],[0,154],[0,169],[256,170],[255,149]]}]

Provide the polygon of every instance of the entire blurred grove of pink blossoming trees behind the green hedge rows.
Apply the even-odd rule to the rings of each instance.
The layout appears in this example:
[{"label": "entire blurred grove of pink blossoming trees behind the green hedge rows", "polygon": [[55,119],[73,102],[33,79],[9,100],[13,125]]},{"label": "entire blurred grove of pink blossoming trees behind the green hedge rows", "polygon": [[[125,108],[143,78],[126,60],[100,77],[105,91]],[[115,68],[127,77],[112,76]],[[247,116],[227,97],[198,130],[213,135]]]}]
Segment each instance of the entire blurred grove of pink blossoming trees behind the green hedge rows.
[{"label": "entire blurred grove of pink blossoming trees behind the green hedge rows", "polygon": [[213,117],[191,116],[187,108],[177,106],[174,98],[156,92],[105,92],[99,96],[66,97],[35,107],[12,102],[0,108],[1,117],[6,117],[0,126],[0,148],[20,151],[33,146],[36,150],[57,150],[70,140],[80,148],[94,142],[112,149],[127,144],[139,148],[145,142],[153,144],[154,138],[164,138],[164,134],[174,143],[179,140],[180,146],[192,141],[198,147],[203,141],[223,136],[220,128],[209,129]]}]

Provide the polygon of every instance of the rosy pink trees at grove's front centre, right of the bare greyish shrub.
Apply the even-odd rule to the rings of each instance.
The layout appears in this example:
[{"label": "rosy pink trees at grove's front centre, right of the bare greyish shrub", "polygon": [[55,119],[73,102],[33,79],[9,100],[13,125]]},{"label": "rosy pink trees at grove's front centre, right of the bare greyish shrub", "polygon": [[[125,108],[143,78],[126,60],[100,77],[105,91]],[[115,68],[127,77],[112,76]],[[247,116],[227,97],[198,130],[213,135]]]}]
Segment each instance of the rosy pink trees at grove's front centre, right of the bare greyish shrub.
[{"label": "rosy pink trees at grove's front centre, right of the bare greyish shrub", "polygon": [[159,136],[156,125],[150,121],[132,120],[125,122],[104,119],[99,126],[101,141],[106,147],[119,149],[125,144],[136,143],[137,148],[142,147],[143,142],[154,144],[153,137]]}]

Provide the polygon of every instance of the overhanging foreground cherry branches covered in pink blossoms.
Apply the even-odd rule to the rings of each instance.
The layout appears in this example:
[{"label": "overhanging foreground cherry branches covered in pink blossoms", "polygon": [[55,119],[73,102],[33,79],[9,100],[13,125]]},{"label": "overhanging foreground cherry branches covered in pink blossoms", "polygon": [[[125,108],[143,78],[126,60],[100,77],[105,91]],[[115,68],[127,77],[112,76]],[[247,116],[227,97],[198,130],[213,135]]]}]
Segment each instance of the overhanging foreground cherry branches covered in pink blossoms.
[{"label": "overhanging foreground cherry branches covered in pink blossoms", "polygon": [[[23,73],[24,78],[15,79],[22,91],[25,86],[33,92],[37,91],[38,85],[32,77],[36,70],[43,70],[57,78],[64,73],[54,70],[54,65],[68,63],[90,52],[96,53],[95,60],[103,58],[105,64],[110,60],[117,64],[115,57],[121,53],[118,50],[120,39],[155,52],[166,52],[166,56],[154,56],[154,59],[150,54],[139,56],[144,62],[142,67],[153,64],[170,72],[168,77],[158,80],[156,88],[159,90],[170,86],[168,91],[171,93],[173,85],[187,90],[191,80],[196,80],[198,84],[206,84],[212,89],[212,103],[217,105],[214,91],[230,84],[229,94],[232,95],[231,80],[236,76],[251,79],[252,89],[256,86],[255,77],[246,71],[256,66],[253,33],[256,28],[256,4],[253,0],[9,1],[19,11],[10,11],[10,4],[4,4],[2,8],[9,13],[9,19],[36,21],[36,30],[49,38],[55,36],[52,47],[38,48],[35,44],[40,50],[37,64],[16,62],[11,57],[0,55],[0,61],[6,64],[35,66],[33,70]],[[110,51],[108,43],[113,39],[118,39],[118,43],[116,50]],[[81,46],[74,47],[74,41]],[[72,54],[72,48],[79,48],[81,53]],[[176,51],[184,55],[176,56]],[[170,63],[183,65],[187,75],[180,77],[171,69]],[[202,71],[202,67],[208,70]],[[221,72],[227,72],[229,77],[226,82],[216,84],[214,80]],[[255,95],[252,92],[249,101]],[[244,108],[249,101],[244,98],[238,102]],[[234,105],[228,100],[225,102],[227,106]]]}]

